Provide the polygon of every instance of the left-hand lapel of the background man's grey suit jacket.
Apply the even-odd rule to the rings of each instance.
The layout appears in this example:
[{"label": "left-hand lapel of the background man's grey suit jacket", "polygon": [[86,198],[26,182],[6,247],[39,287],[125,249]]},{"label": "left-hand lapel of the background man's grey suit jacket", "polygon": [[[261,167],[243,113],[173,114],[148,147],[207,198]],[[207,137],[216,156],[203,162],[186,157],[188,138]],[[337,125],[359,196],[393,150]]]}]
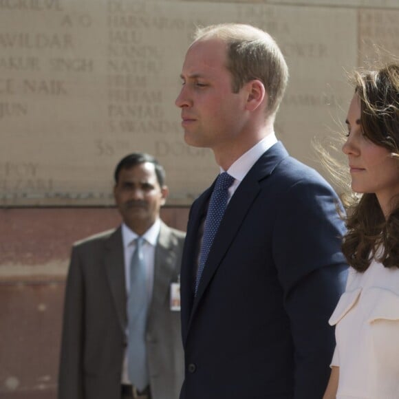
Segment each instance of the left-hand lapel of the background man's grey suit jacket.
[{"label": "left-hand lapel of the background man's grey suit jacket", "polygon": [[109,237],[105,244],[104,263],[118,321],[122,331],[125,333],[127,325],[125,258],[122,244],[122,230],[120,227]]}]

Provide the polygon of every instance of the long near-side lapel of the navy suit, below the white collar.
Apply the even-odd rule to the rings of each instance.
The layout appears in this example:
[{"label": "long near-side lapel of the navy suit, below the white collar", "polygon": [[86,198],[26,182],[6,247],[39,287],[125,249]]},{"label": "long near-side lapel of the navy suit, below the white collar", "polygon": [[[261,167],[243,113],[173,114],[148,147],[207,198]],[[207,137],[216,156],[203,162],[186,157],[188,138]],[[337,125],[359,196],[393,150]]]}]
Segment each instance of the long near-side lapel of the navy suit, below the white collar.
[{"label": "long near-side lapel of the navy suit, below the white collar", "polygon": [[[237,188],[237,191],[235,191],[233,197],[231,197],[222,222],[215,235],[211,251],[209,252],[204,267],[204,272],[202,273],[197,296],[195,296],[191,311],[191,319],[193,318],[193,314],[195,314],[197,305],[200,303],[202,295],[210,283],[213,274],[215,274],[229,246],[237,235],[239,227],[250,210],[252,202],[254,202],[257,195],[259,195],[259,191],[261,191],[261,180],[268,177],[277,164],[286,157],[288,157],[288,153],[284,149],[283,144],[281,144],[281,142],[274,144],[274,146],[266,151],[266,153],[263,153],[261,158],[252,166]],[[211,192],[211,188],[209,191]],[[206,197],[208,198],[209,195],[211,195],[211,193],[208,193]],[[201,209],[204,209],[204,204],[202,204]],[[188,323],[188,329],[189,325],[190,323]]]}]

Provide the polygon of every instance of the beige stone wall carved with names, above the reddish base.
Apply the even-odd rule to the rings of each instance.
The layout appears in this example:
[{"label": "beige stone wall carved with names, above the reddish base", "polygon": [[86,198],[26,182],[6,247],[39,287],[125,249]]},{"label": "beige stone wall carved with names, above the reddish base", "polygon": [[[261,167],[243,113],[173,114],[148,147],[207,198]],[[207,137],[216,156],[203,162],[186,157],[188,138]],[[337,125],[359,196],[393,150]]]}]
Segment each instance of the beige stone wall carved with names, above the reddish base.
[{"label": "beige stone wall carved with names, above the reddish base", "polygon": [[184,143],[174,100],[195,26],[226,21],[281,46],[290,84],[277,136],[320,169],[310,142],[339,129],[346,73],[376,45],[398,54],[399,9],[288,3],[0,0],[0,205],[112,204],[111,171],[131,151],[164,164],[169,205],[191,204],[217,166]]}]

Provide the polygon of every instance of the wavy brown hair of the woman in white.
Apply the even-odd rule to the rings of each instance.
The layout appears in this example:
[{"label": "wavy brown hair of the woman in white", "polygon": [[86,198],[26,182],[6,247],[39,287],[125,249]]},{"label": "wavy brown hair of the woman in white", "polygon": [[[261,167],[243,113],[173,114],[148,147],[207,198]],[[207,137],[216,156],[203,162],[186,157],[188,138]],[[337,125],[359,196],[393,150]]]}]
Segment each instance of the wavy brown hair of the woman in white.
[{"label": "wavy brown hair of the woman in white", "polygon": [[[398,159],[399,174],[399,64],[376,71],[358,70],[351,81],[360,98],[363,134]],[[387,217],[374,193],[346,202],[349,216],[342,249],[348,263],[359,272],[367,270],[373,257],[386,268],[399,267],[398,197],[392,201],[393,211]]]}]

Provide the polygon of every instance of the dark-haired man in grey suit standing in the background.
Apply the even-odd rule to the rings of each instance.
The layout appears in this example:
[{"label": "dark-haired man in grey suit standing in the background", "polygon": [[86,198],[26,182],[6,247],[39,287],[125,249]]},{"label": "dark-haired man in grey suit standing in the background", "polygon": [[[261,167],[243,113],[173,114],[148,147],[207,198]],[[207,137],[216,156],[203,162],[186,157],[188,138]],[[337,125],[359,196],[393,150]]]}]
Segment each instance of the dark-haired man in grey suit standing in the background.
[{"label": "dark-haired man in grey suit standing in the background", "polygon": [[[184,233],[160,220],[168,188],[164,169],[151,155],[127,155],[114,177],[122,225],[72,249],[58,398],[176,399],[184,369],[179,311]],[[131,299],[140,292],[132,260],[137,252],[147,303],[139,307],[145,312],[142,334],[134,332],[140,323],[129,316]],[[142,361],[131,355],[137,349]],[[137,382],[132,369],[140,373]]]}]

